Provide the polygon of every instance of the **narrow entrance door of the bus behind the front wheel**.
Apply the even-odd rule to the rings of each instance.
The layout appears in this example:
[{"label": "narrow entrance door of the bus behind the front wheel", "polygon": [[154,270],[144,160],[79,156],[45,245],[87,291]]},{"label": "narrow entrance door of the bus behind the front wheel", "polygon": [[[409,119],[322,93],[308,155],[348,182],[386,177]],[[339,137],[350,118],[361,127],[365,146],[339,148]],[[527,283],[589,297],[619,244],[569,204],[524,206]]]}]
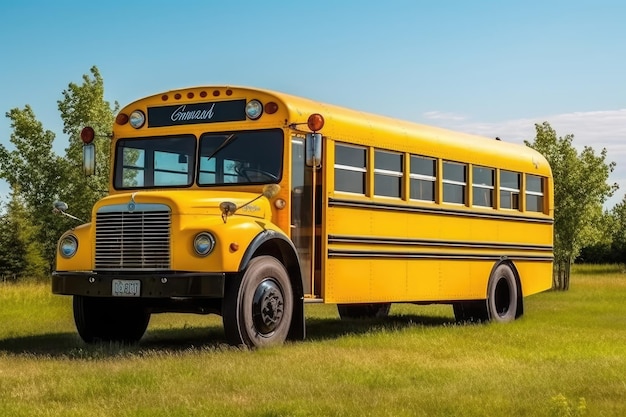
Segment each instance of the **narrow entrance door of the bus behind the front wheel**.
[{"label": "narrow entrance door of the bus behind the front wheel", "polygon": [[[291,138],[291,240],[300,258],[300,271],[304,294],[319,296],[319,284],[315,284],[315,217],[313,198],[314,169],[306,166],[305,139],[303,136]],[[319,207],[319,202],[315,204]],[[319,216],[319,215],[318,215]],[[317,228],[319,230],[319,228]],[[317,268],[316,268],[317,269]]]}]

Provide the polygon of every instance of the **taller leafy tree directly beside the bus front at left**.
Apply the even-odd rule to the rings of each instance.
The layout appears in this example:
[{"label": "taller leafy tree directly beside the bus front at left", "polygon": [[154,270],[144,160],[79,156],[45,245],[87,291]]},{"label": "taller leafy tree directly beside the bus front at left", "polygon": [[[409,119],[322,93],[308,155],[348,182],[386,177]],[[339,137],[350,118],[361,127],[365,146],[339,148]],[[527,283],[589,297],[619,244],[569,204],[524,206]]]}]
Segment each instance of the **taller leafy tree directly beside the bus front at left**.
[{"label": "taller leafy tree directly beside the bus front at left", "polygon": [[[104,80],[97,67],[90,70],[91,76],[83,75],[82,84],[70,83],[63,91],[58,107],[63,120],[63,133],[69,135],[69,146],[65,150],[69,161],[65,172],[65,202],[75,216],[89,220],[91,207],[106,194],[109,181],[111,126],[114,114],[119,110],[104,99]],[[80,132],[85,126],[96,131],[96,175],[85,177],[82,171],[82,141]]]}]

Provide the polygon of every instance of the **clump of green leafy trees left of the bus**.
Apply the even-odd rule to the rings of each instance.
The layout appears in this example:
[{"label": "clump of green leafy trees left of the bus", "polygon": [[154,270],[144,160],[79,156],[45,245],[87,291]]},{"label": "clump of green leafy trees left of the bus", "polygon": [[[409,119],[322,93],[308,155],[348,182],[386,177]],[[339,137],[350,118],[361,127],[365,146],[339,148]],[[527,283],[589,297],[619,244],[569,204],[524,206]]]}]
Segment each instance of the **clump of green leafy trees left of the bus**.
[{"label": "clump of green leafy trees left of the bus", "polygon": [[[28,218],[32,224],[30,234],[22,239],[34,242],[39,253],[47,262],[47,270],[52,268],[55,258],[56,243],[70,224],[65,217],[52,212],[52,203],[61,199],[68,203],[70,211],[77,217],[88,221],[95,201],[107,190],[109,174],[110,132],[114,111],[104,100],[104,82],[96,67],[91,75],[84,75],[82,84],[70,83],[63,91],[63,99],[58,101],[58,108],[63,120],[63,133],[69,135],[69,146],[64,157],[53,151],[54,133],[45,130],[35,117],[32,108],[15,108],[6,113],[11,120],[13,130],[10,141],[14,149],[0,144],[0,178],[5,179],[14,193],[16,201],[23,202],[25,212],[19,216],[9,216],[11,210],[3,216],[3,239],[17,239],[11,228],[18,219]],[[80,131],[89,125],[100,133],[97,141],[98,172],[94,177],[82,175],[82,142]],[[16,212],[17,213],[17,212]],[[22,227],[22,226],[20,226]],[[26,229],[24,229],[26,230]],[[36,259],[22,256],[12,251],[3,242],[0,257],[13,257],[11,265],[18,265],[27,259],[24,271],[29,271]]]}]

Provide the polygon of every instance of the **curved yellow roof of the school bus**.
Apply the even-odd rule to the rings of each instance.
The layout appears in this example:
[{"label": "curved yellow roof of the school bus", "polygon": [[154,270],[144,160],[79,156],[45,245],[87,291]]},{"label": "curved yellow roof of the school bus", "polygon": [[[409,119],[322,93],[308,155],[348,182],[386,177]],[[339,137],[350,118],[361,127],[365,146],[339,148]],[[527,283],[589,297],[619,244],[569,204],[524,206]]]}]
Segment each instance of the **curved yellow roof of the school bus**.
[{"label": "curved yellow roof of the school bus", "polygon": [[286,125],[294,124],[298,128],[306,128],[308,116],[319,113],[325,120],[320,133],[337,141],[551,176],[546,159],[522,144],[375,115],[260,88],[226,85],[183,88],[137,100],[122,111],[131,110],[138,103],[162,103],[164,96],[186,97],[190,93],[199,97],[200,93],[204,93],[202,96],[206,98],[203,101],[216,101],[216,97],[223,100],[224,95],[230,99],[273,100],[286,110]]}]

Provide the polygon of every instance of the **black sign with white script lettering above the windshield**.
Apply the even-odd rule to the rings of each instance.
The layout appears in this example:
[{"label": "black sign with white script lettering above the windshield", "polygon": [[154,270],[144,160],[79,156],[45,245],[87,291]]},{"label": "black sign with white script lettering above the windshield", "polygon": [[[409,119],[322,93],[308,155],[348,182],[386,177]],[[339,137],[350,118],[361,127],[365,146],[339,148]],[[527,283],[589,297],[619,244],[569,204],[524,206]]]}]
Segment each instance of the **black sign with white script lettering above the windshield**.
[{"label": "black sign with white script lettering above the windshield", "polygon": [[148,107],[148,127],[246,120],[246,100]]}]

